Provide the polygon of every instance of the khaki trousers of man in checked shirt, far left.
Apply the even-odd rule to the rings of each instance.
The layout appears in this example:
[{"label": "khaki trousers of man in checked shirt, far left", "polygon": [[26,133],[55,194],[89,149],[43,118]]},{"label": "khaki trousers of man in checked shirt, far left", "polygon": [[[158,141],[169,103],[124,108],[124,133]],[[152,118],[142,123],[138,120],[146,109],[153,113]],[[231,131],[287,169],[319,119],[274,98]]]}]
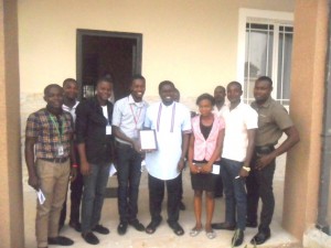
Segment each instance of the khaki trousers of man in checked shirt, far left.
[{"label": "khaki trousers of man in checked shirt, far left", "polygon": [[54,163],[40,159],[35,166],[40,188],[46,198],[42,205],[36,201],[35,236],[38,247],[46,247],[49,237],[58,236],[58,219],[66,196],[71,166],[70,160]]}]

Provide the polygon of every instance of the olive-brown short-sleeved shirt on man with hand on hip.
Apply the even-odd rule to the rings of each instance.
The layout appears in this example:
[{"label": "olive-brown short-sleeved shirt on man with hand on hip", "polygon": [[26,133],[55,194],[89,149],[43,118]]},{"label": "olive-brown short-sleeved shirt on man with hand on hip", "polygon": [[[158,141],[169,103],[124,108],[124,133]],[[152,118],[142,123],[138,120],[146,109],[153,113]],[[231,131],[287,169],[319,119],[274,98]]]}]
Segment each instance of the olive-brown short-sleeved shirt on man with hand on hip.
[{"label": "olive-brown short-sleeved shirt on man with hand on hip", "polygon": [[254,101],[252,107],[258,114],[258,129],[255,137],[257,147],[277,144],[282,130],[293,126],[286,108],[271,97],[260,106]]}]

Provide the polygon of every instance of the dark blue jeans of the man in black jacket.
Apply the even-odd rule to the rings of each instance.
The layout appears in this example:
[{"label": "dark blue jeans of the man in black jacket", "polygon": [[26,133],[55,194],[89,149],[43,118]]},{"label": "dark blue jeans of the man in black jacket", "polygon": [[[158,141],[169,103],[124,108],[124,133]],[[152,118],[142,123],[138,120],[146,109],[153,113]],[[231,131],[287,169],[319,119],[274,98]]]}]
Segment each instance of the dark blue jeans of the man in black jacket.
[{"label": "dark blue jeans of the man in black jacket", "polygon": [[89,163],[90,174],[84,176],[82,233],[90,231],[100,220],[110,163]]}]

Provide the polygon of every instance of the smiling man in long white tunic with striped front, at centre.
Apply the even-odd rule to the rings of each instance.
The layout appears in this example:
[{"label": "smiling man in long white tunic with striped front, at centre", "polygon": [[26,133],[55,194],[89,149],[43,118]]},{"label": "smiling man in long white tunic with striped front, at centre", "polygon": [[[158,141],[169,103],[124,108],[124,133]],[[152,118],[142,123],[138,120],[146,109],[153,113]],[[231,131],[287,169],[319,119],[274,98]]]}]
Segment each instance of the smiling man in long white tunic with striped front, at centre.
[{"label": "smiling man in long white tunic with striped front, at centre", "polygon": [[191,133],[190,110],[173,100],[173,83],[161,82],[159,85],[160,103],[147,109],[145,127],[156,130],[158,150],[146,154],[146,166],[149,173],[149,211],[151,222],[146,233],[153,234],[160,225],[161,205],[164,196],[164,184],[168,192],[168,224],[174,234],[184,234],[179,220],[180,172]]}]

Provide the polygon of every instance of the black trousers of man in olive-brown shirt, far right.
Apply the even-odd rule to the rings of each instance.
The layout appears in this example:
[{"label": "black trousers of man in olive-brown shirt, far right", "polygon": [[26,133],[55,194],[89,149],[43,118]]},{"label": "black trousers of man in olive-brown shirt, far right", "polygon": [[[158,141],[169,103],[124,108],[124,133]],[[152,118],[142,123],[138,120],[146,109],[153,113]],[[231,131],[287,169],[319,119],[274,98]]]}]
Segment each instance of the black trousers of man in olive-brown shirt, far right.
[{"label": "black trousers of man in olive-brown shirt, far right", "polygon": [[258,200],[261,200],[259,231],[270,231],[270,223],[275,209],[275,196],[273,188],[273,180],[275,174],[276,161],[265,166],[261,171],[254,170],[255,161],[258,159],[257,152],[252,161],[252,171],[246,179],[247,187],[247,220],[257,222]]}]

